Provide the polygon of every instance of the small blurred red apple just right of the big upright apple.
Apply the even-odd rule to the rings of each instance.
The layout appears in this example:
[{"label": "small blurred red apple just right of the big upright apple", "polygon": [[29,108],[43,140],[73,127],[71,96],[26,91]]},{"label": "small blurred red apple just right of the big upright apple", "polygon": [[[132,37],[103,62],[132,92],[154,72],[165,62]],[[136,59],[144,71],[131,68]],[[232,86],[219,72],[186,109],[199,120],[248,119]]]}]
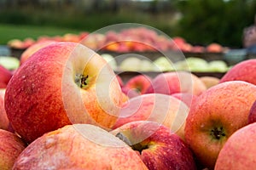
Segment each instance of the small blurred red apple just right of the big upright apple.
[{"label": "small blurred red apple just right of the big upright apple", "polygon": [[145,94],[151,81],[151,77],[139,74],[135,77],[131,77],[130,80],[125,83],[125,88],[135,89],[139,94]]}]

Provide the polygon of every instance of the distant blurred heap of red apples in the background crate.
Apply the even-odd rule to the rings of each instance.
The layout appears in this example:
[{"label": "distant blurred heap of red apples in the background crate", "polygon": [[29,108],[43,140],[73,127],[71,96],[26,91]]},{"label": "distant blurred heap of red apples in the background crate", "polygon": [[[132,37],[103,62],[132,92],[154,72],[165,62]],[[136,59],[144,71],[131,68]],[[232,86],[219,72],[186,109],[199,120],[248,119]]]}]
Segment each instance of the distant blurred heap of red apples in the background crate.
[{"label": "distant blurred heap of red apples in the background crate", "polygon": [[10,48],[26,49],[34,43],[56,41],[56,42],[80,42],[85,46],[97,51],[112,51],[116,53],[127,52],[155,52],[155,51],[179,51],[188,53],[224,53],[228,48],[212,42],[206,47],[192,45],[183,37],[166,37],[159,35],[157,31],[148,27],[126,28],[121,31],[107,31],[105,33],[89,33],[87,31],[79,34],[67,33],[63,36],[47,37],[41,36],[37,40],[27,37],[24,40],[12,39],[8,42]]}]

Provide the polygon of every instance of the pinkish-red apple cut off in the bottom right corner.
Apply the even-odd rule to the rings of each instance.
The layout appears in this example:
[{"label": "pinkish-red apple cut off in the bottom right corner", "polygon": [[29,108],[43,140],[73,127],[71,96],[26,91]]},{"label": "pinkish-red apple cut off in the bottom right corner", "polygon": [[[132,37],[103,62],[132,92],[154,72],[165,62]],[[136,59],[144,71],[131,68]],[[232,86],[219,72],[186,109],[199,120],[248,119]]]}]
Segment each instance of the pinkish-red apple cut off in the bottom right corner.
[{"label": "pinkish-red apple cut off in the bottom right corner", "polygon": [[253,169],[256,166],[256,122],[233,133],[220,150],[215,170]]}]

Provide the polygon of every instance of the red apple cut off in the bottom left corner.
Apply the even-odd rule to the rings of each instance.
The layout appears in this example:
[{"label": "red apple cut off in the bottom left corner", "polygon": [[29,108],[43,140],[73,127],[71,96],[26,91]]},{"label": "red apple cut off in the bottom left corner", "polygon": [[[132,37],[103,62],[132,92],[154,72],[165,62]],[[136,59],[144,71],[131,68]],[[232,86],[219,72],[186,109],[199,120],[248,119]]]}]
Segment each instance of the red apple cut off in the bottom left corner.
[{"label": "red apple cut off in the bottom left corner", "polygon": [[16,158],[26,148],[26,144],[15,134],[0,129],[0,168],[12,169]]}]

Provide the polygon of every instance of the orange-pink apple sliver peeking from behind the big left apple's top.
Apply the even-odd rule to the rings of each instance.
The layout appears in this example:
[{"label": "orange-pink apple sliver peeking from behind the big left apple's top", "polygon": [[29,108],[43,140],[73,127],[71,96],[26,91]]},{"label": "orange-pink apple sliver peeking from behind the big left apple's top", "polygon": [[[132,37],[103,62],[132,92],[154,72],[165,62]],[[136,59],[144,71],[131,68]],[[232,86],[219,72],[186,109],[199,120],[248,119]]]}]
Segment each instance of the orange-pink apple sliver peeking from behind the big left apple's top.
[{"label": "orange-pink apple sliver peeking from behind the big left apple's top", "polygon": [[36,42],[29,48],[26,48],[26,50],[20,55],[20,65],[22,65],[26,61],[26,59],[28,59],[32,54],[38,51],[38,49],[44,48],[53,42],[55,41],[44,40],[44,41]]}]

